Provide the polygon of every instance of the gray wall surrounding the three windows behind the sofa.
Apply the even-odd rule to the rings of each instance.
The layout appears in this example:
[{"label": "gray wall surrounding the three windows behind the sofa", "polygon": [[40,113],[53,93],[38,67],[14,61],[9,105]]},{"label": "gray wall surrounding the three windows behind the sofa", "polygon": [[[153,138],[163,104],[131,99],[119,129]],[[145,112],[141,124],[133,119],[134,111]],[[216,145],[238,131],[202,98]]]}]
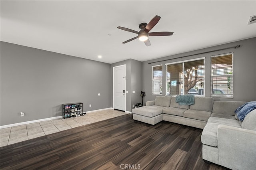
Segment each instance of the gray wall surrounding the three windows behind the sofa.
[{"label": "gray wall surrounding the three windows behind the sofa", "polygon": [[[241,45],[239,48],[225,49],[221,51],[215,51],[211,53],[205,53],[201,55],[193,55],[190,57],[183,57],[179,59],[173,59],[176,57],[182,57],[186,55],[192,55],[196,53],[202,53],[206,51],[213,51],[216,49],[223,49]],[[166,77],[165,77],[165,64],[175,61],[184,61],[187,59],[194,59],[200,57],[206,57],[206,82],[205,82],[205,95],[210,97],[210,57],[211,55],[218,55],[223,53],[234,52],[233,58],[233,73],[234,73],[234,98],[214,98],[220,101],[256,101],[256,38],[250,38],[247,40],[241,40],[237,42],[227,43],[223,45],[217,45],[205,49],[196,51],[190,51],[187,53],[181,53],[168,57],[162,57],[150,61],[143,62],[142,77],[143,77],[143,89],[146,91],[146,101],[154,100],[156,95],[152,95],[152,65],[163,65],[163,95],[166,94]],[[157,63],[148,64],[148,62],[160,61],[165,59],[172,59],[168,61],[162,61]]]}]

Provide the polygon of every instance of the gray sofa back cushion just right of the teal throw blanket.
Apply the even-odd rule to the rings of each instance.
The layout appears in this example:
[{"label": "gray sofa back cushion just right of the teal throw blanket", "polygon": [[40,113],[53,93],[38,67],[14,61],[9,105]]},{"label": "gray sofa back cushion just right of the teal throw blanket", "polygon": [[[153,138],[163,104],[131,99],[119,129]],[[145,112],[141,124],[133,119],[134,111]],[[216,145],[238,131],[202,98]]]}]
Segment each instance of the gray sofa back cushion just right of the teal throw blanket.
[{"label": "gray sofa back cushion just right of the teal throw blanket", "polygon": [[195,104],[190,105],[189,109],[198,110],[198,111],[206,111],[212,112],[212,106],[214,103],[214,99],[211,97],[195,97]]}]

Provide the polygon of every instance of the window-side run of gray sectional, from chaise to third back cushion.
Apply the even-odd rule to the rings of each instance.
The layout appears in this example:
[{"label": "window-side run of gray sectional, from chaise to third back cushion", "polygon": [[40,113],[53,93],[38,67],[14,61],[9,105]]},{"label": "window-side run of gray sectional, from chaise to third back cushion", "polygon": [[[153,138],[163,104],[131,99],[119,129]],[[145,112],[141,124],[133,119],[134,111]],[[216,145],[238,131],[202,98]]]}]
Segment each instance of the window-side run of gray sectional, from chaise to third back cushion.
[{"label": "window-side run of gray sectional, from chaise to third back cushion", "polygon": [[214,99],[195,97],[194,102],[190,106],[179,105],[176,97],[156,96],[146,106],[132,109],[133,119],[151,125],[164,120],[203,129],[212,114]]}]

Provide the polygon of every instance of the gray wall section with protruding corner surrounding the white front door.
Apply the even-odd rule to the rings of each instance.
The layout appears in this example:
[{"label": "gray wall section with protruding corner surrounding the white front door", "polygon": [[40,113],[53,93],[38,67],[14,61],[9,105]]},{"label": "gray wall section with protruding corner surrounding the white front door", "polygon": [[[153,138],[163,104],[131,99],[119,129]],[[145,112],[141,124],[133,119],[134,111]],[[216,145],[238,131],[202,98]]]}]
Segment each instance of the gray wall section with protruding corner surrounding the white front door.
[{"label": "gray wall section with protruding corner surrounding the white front door", "polygon": [[[126,111],[132,111],[132,105],[136,103],[141,103],[140,91],[142,91],[142,62],[134,60],[134,59],[127,59],[124,61],[120,61],[117,63],[111,64],[111,82],[113,82],[113,67],[119,65],[126,65]],[[135,91],[135,93],[132,93]],[[111,106],[113,107],[113,87],[111,89]]]}]

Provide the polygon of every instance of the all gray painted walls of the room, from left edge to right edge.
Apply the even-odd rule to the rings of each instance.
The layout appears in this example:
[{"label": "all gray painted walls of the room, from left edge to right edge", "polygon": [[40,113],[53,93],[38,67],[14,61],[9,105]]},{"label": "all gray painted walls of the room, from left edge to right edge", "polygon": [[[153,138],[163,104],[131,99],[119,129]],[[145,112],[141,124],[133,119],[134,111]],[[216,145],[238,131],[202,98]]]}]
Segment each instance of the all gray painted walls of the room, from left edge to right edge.
[{"label": "all gray painted walls of the room, from left edge to right edge", "polygon": [[[206,57],[206,96],[210,96],[210,56],[234,52],[234,98],[215,98],[226,101],[256,101],[256,38],[217,45],[187,53],[150,61],[128,59],[107,64],[79,57],[44,51],[1,42],[1,113],[0,125],[9,125],[62,115],[62,103],[82,102],[84,111],[113,107],[113,67],[126,65],[126,111],[142,102],[140,91],[146,92],[146,101],[152,95],[152,65],[148,62],[172,59],[234,45],[226,49],[182,59],[157,62],[152,65]],[[156,56],[157,57],[157,56]],[[165,94],[163,76],[163,94]],[[132,93],[135,91],[135,93]],[[98,93],[101,95],[98,96]],[[89,105],[92,107],[89,107]],[[25,113],[20,117],[20,112]]]}]

